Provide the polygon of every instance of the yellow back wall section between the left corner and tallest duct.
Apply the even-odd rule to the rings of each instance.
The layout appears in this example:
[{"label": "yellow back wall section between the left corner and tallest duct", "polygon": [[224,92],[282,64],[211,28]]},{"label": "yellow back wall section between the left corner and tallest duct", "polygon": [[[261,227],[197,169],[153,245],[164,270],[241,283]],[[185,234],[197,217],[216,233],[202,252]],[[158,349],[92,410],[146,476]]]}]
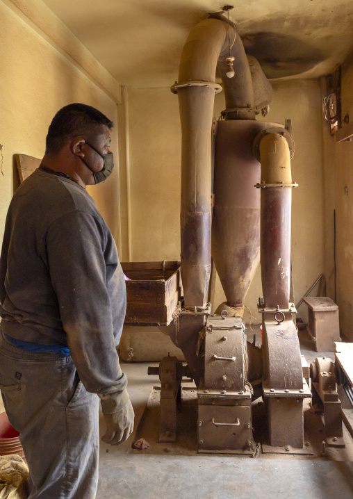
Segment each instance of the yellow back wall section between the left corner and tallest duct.
[{"label": "yellow back wall section between the left corner and tallest duct", "polygon": [[169,88],[129,90],[131,259],[180,259],[181,129]]}]

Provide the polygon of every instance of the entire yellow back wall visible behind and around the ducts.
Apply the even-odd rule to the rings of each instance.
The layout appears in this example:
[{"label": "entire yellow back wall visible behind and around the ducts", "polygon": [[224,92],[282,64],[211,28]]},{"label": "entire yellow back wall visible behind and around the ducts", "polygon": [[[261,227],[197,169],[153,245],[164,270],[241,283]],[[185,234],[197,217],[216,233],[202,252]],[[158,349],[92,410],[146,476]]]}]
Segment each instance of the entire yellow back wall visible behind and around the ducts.
[{"label": "entire yellow back wall visible behind and around the ducts", "polygon": [[[296,301],[323,272],[322,136],[318,81],[274,83],[274,98],[265,120],[292,120],[296,152],[293,179],[293,274]],[[224,109],[215,97],[215,116]],[[180,259],[181,129],[178,99],[169,88],[129,90],[131,259]],[[259,321],[256,302],[262,295],[260,269],[245,304]],[[217,280],[215,303],[224,301]],[[306,307],[299,309],[306,317]],[[249,322],[250,311],[245,314]],[[253,320],[254,320],[253,318]]]}]

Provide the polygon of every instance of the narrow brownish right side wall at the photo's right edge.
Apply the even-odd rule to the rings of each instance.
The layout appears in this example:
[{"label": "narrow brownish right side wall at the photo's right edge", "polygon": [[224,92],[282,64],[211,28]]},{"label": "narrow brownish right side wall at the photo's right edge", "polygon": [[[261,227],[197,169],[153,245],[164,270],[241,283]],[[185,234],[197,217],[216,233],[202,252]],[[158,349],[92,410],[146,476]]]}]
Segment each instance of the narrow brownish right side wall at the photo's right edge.
[{"label": "narrow brownish right side wall at the photo's right edge", "polygon": [[[353,53],[342,65],[342,117],[353,117]],[[353,142],[334,144],[336,208],[336,302],[340,332],[353,341]]]}]

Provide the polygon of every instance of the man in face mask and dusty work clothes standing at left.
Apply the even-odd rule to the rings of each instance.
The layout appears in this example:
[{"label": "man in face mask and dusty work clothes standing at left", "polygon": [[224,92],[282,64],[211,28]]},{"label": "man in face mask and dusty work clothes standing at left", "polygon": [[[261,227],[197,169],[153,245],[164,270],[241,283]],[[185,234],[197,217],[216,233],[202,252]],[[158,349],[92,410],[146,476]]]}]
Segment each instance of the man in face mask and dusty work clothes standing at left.
[{"label": "man in face mask and dusty work clothes standing at left", "polygon": [[118,445],[133,430],[115,349],[126,309],[124,275],[85,190],[113,168],[112,126],[84,104],[60,109],[42,163],[17,189],[6,219],[0,388],[20,432],[31,499],[95,498],[99,398],[105,442]]}]

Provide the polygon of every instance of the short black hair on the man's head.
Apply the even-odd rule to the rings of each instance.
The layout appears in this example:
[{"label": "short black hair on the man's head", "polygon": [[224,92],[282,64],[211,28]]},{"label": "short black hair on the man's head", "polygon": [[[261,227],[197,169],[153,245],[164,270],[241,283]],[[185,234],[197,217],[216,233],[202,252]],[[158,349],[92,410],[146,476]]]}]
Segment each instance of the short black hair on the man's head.
[{"label": "short black hair on the man's head", "polygon": [[57,153],[77,136],[92,136],[101,125],[113,128],[106,115],[86,104],[69,104],[56,113],[48,129],[45,152]]}]

